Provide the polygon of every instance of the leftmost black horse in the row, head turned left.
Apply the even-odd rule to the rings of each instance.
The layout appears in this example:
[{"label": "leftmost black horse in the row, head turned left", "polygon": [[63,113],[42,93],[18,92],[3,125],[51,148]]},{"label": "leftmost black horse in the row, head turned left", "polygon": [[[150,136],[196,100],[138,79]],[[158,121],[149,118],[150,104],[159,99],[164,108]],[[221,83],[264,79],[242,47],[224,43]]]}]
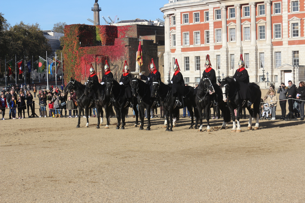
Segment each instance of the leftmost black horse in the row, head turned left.
[{"label": "leftmost black horse in the row, head turned left", "polygon": [[74,100],[74,102],[77,102],[78,105],[78,123],[76,128],[80,127],[81,124],[81,111],[83,109],[85,109],[85,115],[87,118],[87,124],[85,125],[86,128],[88,128],[89,126],[89,107],[92,106],[92,104],[94,103],[90,97],[85,96],[84,91],[85,91],[85,85],[81,84],[80,82],[72,79],[70,79],[70,81],[68,82],[68,84],[66,85],[65,89],[63,89],[63,93],[69,93],[71,90],[74,90],[76,95],[77,95],[77,100]]}]

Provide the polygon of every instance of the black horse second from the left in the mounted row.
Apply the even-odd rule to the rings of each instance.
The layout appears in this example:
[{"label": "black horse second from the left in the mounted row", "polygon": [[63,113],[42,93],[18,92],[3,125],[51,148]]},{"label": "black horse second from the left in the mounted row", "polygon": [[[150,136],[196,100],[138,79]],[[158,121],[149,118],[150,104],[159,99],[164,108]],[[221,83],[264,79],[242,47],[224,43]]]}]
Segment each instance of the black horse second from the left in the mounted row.
[{"label": "black horse second from the left in the mounted row", "polygon": [[[102,123],[103,123],[103,107],[105,109],[106,114],[106,120],[107,124],[105,128],[109,128],[110,123],[110,116],[114,115],[113,108],[111,106],[110,98],[106,96],[106,85],[101,85],[99,82],[93,79],[88,79],[86,82],[86,87],[84,94],[87,96],[88,93],[94,92],[95,93],[95,107],[97,110],[97,126],[96,128],[99,128],[100,125],[100,112],[102,117]],[[112,114],[112,115],[110,115]]]}]

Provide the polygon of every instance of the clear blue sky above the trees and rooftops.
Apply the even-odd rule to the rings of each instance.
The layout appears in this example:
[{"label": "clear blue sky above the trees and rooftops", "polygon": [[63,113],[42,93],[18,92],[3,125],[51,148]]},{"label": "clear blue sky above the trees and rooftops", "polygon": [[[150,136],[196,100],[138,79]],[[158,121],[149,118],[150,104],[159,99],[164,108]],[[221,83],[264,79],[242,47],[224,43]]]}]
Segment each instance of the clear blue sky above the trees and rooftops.
[{"label": "clear blue sky above the trees and rooftops", "polygon": [[[87,18],[93,20],[91,7],[93,7],[95,0],[1,0],[0,2],[0,12],[4,14],[5,19],[11,26],[23,21],[26,24],[38,23],[41,30],[49,30],[57,22],[92,25]],[[105,25],[102,16],[108,21],[107,16],[110,16],[113,20],[117,16],[119,21],[136,18],[147,20],[160,18],[163,20],[163,13],[160,8],[168,3],[168,0],[99,0],[98,3],[99,7],[102,8],[102,11],[99,12],[100,22],[101,25]]]}]

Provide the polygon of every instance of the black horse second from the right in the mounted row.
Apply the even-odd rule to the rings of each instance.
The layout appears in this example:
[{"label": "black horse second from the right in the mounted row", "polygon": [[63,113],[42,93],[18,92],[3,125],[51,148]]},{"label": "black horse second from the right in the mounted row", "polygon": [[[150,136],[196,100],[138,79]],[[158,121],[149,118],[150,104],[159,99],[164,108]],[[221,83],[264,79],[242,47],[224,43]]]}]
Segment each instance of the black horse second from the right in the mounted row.
[{"label": "black horse second from the right in the mounted row", "polygon": [[[222,124],[221,129],[225,129],[228,127],[228,123],[231,120],[230,111],[228,107],[226,107],[226,103],[222,100],[221,89],[219,86],[214,86],[211,83],[210,78],[203,78],[200,80],[197,87],[197,94],[195,95],[195,103],[197,105],[197,110],[199,114],[200,127],[199,132],[202,131],[202,110],[204,109],[206,112],[206,122],[207,128],[206,131],[210,132],[210,108],[213,106],[214,95],[217,94],[218,107],[220,108],[222,115],[224,117],[224,122]],[[197,119],[198,120],[198,117]]]}]

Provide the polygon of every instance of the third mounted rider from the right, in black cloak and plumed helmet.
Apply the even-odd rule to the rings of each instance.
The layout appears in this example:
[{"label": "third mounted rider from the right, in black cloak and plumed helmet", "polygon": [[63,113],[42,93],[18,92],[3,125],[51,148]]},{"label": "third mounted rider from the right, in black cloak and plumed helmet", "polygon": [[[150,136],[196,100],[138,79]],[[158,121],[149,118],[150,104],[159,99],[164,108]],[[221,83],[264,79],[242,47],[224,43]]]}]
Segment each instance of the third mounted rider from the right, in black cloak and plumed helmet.
[{"label": "third mounted rider from the right, in black cloak and plumed helmet", "polygon": [[185,83],[183,79],[183,75],[180,72],[179,64],[176,59],[175,65],[174,65],[174,75],[170,81],[172,84],[172,94],[173,96],[176,96],[177,105],[181,106],[180,97],[184,95],[184,89],[185,89]]}]

